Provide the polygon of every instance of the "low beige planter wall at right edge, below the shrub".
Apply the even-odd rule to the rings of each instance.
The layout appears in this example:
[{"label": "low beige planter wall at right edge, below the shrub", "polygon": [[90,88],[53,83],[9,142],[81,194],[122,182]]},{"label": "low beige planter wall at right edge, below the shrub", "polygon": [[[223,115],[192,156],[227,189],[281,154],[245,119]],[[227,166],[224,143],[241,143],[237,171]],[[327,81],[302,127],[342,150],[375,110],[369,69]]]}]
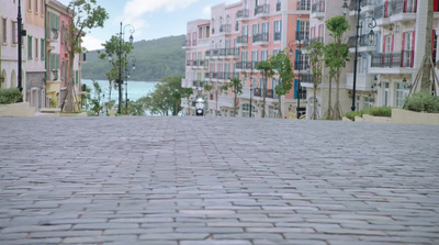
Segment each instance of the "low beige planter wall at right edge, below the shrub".
[{"label": "low beige planter wall at right edge, below the shrub", "polygon": [[425,113],[392,109],[392,123],[439,125],[439,113]]}]

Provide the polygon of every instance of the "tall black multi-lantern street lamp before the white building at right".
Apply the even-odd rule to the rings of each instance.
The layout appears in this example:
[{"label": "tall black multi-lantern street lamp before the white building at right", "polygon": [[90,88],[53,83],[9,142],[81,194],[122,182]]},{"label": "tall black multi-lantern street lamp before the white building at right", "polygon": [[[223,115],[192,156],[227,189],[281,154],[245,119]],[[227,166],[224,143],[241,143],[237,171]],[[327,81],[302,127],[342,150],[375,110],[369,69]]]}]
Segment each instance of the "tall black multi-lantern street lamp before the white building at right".
[{"label": "tall black multi-lantern street lamp before the white building at right", "polygon": [[[361,12],[361,2],[362,0],[357,0],[357,26],[356,26],[356,55],[353,58],[353,86],[352,86],[352,107],[351,110],[356,111],[356,92],[357,92],[357,64],[358,64],[358,38],[359,38],[359,30],[360,30],[360,12]],[[348,2],[345,0],[345,3],[342,4],[342,13],[346,16],[348,12]],[[362,21],[370,20],[370,23],[368,24],[370,32],[369,32],[369,44],[373,44],[375,41],[375,34],[373,33],[373,27],[376,26],[376,21],[372,16],[367,16]]]}]

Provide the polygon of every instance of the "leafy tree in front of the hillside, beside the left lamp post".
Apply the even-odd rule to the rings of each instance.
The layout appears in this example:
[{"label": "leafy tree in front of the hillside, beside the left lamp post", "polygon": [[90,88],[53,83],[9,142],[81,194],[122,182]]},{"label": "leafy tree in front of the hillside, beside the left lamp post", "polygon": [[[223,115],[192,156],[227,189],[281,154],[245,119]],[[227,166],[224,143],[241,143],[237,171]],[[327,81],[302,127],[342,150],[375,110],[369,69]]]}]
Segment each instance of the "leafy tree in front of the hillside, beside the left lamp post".
[{"label": "leafy tree in front of the hillside, beside the left lamp post", "polygon": [[[109,102],[108,104],[112,107],[115,105],[115,101],[111,99],[111,92],[114,89],[119,89],[119,83],[116,82],[119,80],[119,66],[122,65],[122,67],[125,67],[127,60],[126,56],[131,54],[132,49],[134,48],[133,44],[130,42],[122,42],[122,38],[120,36],[113,35],[111,36],[110,41],[106,41],[104,44],[102,44],[104,47],[104,51],[98,51],[99,58],[100,59],[109,59],[111,64],[111,69],[106,73],[106,78],[109,80]],[[113,54],[121,53],[121,63],[119,63],[117,59],[113,58]],[[121,81],[122,86],[122,81]],[[111,101],[114,101],[114,103],[111,103]]]}]

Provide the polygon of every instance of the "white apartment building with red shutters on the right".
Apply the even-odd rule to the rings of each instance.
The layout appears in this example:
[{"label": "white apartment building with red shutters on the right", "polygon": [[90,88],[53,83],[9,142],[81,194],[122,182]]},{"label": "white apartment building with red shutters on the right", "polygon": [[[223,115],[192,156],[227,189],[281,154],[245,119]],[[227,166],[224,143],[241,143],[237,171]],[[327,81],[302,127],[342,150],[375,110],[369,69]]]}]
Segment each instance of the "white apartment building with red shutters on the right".
[{"label": "white apartment building with red shutters on the right", "polygon": [[[311,42],[331,42],[325,21],[342,14],[345,0],[313,0],[311,11]],[[370,107],[403,107],[409,89],[421,66],[426,45],[427,2],[419,0],[363,0],[360,5],[358,65],[356,79],[356,110]],[[358,1],[347,1],[347,19],[351,24],[346,34],[350,45],[350,62],[341,74],[340,103],[342,112],[351,110],[353,96],[353,56]],[[438,0],[435,0],[434,30],[438,26]],[[370,31],[374,42],[369,41]],[[437,32],[434,31],[431,53],[437,60]],[[323,68],[318,85],[318,118],[325,118],[328,108],[328,70]],[[306,76],[303,86],[308,88],[307,118],[313,114],[313,78]],[[334,92],[333,92],[334,98]],[[331,107],[334,107],[334,100]]]}]

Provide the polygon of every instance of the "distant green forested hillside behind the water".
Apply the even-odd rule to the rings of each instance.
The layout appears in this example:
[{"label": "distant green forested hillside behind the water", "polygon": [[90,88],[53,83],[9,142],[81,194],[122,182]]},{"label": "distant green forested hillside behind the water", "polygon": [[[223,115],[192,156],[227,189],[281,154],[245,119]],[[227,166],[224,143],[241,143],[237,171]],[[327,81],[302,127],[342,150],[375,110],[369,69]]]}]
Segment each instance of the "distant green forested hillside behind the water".
[{"label": "distant green forested hillside behind the water", "polygon": [[[185,35],[169,36],[134,43],[132,55],[137,59],[136,70],[130,80],[157,81],[168,76],[184,76],[185,52],[182,44]],[[98,52],[87,53],[87,64],[82,65],[82,78],[106,80],[110,64],[98,57]]]}]

